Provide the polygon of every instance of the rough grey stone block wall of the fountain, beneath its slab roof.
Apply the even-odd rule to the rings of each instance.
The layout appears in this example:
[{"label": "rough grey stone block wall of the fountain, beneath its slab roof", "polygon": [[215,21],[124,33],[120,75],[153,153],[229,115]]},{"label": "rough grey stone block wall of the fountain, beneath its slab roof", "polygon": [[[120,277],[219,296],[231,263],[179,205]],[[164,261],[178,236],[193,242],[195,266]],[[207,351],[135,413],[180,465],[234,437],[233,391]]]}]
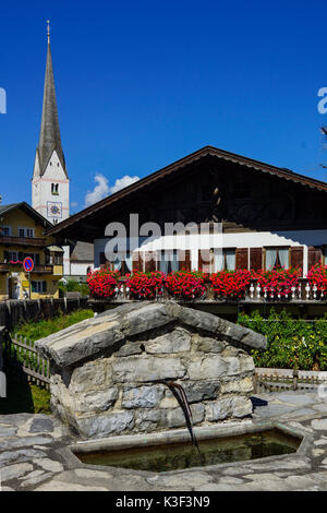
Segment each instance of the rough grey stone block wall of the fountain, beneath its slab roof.
[{"label": "rough grey stone block wall of the fountain, beneath its slab roof", "polygon": [[182,384],[194,426],[252,413],[253,359],[243,349],[190,329],[155,330],[126,341],[111,356],[92,359],[51,378],[52,409],[83,438],[185,426],[165,384]]}]

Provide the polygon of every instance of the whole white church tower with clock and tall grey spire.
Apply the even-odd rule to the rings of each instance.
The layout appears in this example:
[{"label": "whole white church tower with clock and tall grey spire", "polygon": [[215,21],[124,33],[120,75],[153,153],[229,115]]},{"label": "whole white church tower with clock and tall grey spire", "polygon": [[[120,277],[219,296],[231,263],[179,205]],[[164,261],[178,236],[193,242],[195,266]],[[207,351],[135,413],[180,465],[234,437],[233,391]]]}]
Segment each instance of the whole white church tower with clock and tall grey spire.
[{"label": "whole white church tower with clock and tall grey spire", "polygon": [[61,147],[48,21],[48,53],[39,142],[32,179],[32,206],[50,223],[70,215],[70,179]]}]

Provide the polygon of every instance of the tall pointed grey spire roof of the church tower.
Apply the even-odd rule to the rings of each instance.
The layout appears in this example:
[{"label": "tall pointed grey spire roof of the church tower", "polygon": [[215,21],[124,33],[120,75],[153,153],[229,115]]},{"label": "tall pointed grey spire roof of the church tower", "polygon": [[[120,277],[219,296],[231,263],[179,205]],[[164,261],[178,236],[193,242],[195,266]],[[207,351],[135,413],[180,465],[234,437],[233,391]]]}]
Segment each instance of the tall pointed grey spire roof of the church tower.
[{"label": "tall pointed grey spire roof of the church tower", "polygon": [[68,177],[64,155],[61,147],[51,48],[48,41],[41,128],[37,146],[40,176],[44,175],[53,151],[57,152],[62,168]]}]

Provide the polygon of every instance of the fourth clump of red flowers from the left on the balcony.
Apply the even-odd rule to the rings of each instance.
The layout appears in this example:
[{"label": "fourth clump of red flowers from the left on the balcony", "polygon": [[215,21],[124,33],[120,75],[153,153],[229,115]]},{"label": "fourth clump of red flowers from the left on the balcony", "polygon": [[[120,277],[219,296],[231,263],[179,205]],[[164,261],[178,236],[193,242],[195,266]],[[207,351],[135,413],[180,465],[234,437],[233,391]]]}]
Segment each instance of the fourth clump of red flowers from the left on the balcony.
[{"label": "fourth clump of red flowers from the left on the balcony", "polygon": [[221,298],[242,298],[251,282],[251,272],[246,270],[219,271],[209,276],[215,296]]}]

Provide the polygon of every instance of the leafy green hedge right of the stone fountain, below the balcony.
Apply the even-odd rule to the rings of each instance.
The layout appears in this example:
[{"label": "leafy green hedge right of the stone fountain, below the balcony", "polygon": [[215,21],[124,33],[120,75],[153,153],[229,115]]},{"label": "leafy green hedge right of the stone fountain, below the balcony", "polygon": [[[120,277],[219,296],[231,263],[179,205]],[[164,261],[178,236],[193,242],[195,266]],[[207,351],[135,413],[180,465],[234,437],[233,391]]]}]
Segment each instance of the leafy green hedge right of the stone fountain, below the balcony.
[{"label": "leafy green hedge right of the stone fountain, below the balcony", "polygon": [[252,350],[256,367],[327,370],[327,315],[305,322],[271,309],[267,319],[256,311],[241,313],[238,322],[268,338],[267,350]]}]

